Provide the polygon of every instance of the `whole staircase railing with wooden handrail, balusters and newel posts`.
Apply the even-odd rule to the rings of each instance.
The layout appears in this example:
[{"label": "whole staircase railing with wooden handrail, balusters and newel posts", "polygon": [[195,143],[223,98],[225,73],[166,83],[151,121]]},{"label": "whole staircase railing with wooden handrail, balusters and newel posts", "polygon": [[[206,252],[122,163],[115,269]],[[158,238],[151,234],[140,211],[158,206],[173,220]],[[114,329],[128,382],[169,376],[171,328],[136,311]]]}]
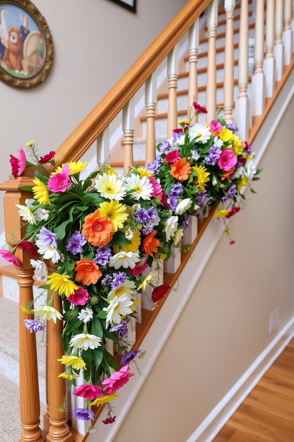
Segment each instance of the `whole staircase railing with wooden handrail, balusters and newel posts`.
[{"label": "whole staircase railing with wooden handrail, balusters and newel posts", "polygon": [[[294,29],[294,10],[292,10],[291,0],[268,0],[266,11],[266,55],[264,58],[264,0],[257,0],[256,7],[256,37],[255,37],[255,72],[252,77],[252,122],[249,121],[248,87],[248,36],[249,36],[249,4],[251,0],[241,0],[235,5],[235,0],[225,0],[224,10],[219,11],[226,14],[226,42],[224,60],[224,118],[227,122],[234,120],[239,128],[239,136],[245,141],[249,137],[249,128],[253,126],[249,142],[257,134],[259,127],[268,113],[276,96],[282,88],[283,82],[293,67],[292,45]],[[216,48],[216,29],[218,26],[218,1],[217,0],[189,0],[178,15],[161,32],[147,50],[138,58],[133,66],[123,75],[123,77],[104,96],[96,107],[86,116],[77,128],[67,137],[67,139],[56,150],[56,163],[61,165],[64,160],[77,161],[87,151],[87,149],[97,140],[97,164],[101,164],[109,156],[109,124],[123,109],[123,137],[125,160],[124,168],[128,170],[128,165],[133,164],[133,140],[134,140],[134,95],[145,83],[145,105],[147,114],[146,133],[146,164],[155,159],[155,109],[157,101],[156,74],[157,66],[167,57],[167,77],[169,87],[169,104],[167,113],[167,136],[177,126],[177,79],[179,74],[178,49],[177,45],[182,36],[189,32],[188,55],[189,61],[189,89],[188,103],[193,104],[197,98],[197,60],[199,49],[199,17],[208,7],[207,30],[208,30],[208,51],[202,56],[208,56],[207,67],[207,122],[216,117],[216,53],[220,48]],[[234,43],[234,9],[240,8],[239,19],[239,43]],[[275,8],[275,11],[274,11]],[[253,11],[254,12],[254,11]],[[235,17],[236,18],[236,17]],[[275,19],[275,23],[274,23]],[[221,24],[224,24],[221,22]],[[250,25],[251,26],[251,25]],[[283,27],[284,26],[284,27]],[[238,57],[238,99],[234,102],[234,48],[239,47]],[[283,76],[284,74],[284,76]],[[185,112],[186,113],[186,112]],[[194,123],[197,117],[194,118]],[[252,123],[252,124],[251,124]],[[59,154],[59,155],[58,155]],[[4,197],[4,217],[5,231],[15,232],[15,237],[6,236],[10,247],[13,241],[20,239],[22,222],[15,204],[24,204],[26,198],[30,198],[29,192],[19,190],[23,185],[31,185],[30,170],[26,170],[20,178],[11,179],[0,185],[0,190],[6,191]],[[213,215],[213,208],[208,217],[198,219],[197,229],[194,230],[194,237],[190,241],[192,250],[196,247],[206,225]],[[196,226],[197,227],[197,226]],[[17,250],[21,267],[17,269],[20,305],[33,301],[33,268],[30,265],[30,256],[22,249]],[[174,259],[171,263],[172,274],[164,274],[164,283],[171,286],[177,280],[182,268],[185,266],[190,255],[182,256],[182,259]],[[58,299],[58,297],[56,297]],[[154,311],[141,309],[141,322],[137,323],[136,341],[134,348],[138,348],[142,343],[146,333],[153,323],[160,308],[164,304],[160,300],[158,308]],[[61,311],[61,305],[55,305]],[[143,306],[144,307],[144,306]],[[60,358],[63,349],[59,339],[61,330],[60,324],[48,324],[48,358],[47,358],[47,397],[48,413],[44,416],[45,430],[41,434],[39,427],[39,389],[37,376],[37,352],[35,335],[24,327],[23,319],[26,312],[20,311],[20,407],[22,421],[21,442],[78,442],[87,438],[74,430],[67,423],[65,412],[59,412],[58,407],[66,394],[65,382],[58,378],[60,367],[56,364],[57,357]],[[52,322],[52,321],[50,321]],[[96,419],[102,408],[96,410]]]}]

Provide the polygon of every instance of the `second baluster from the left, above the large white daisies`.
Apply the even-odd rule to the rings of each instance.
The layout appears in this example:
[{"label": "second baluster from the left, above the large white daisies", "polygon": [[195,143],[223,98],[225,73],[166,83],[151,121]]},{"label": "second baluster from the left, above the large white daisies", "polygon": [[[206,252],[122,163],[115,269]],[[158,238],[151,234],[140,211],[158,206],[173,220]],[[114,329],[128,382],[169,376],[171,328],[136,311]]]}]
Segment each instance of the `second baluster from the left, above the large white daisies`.
[{"label": "second baluster from the left, above the large white daisies", "polygon": [[129,170],[129,165],[134,166],[133,144],[134,144],[134,130],[135,130],[135,97],[123,107],[123,137],[124,137],[124,168],[126,174]]}]

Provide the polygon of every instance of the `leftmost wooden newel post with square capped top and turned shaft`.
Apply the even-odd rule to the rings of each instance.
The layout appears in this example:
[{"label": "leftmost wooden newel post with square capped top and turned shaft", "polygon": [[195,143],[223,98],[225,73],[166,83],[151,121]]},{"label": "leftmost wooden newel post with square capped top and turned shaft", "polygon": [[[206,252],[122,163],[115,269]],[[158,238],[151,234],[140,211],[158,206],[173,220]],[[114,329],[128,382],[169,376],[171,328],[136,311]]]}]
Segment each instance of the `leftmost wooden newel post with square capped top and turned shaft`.
[{"label": "leftmost wooden newel post with square capped top and turned shaft", "polygon": [[[23,175],[25,175],[26,171]],[[11,179],[0,184],[0,190],[6,191],[4,196],[4,222],[6,239],[10,243],[18,243],[25,233],[26,227],[22,225],[22,218],[15,204],[25,205],[27,198],[32,198],[30,192],[19,190],[21,186],[33,185],[28,176]],[[14,232],[14,237],[9,234]],[[11,245],[10,248],[13,246]],[[30,259],[33,258],[28,252],[18,248],[15,256],[19,259],[20,267],[17,267],[19,285],[19,305],[33,301],[33,267]],[[32,307],[33,308],[33,307]],[[30,333],[25,327],[24,319],[33,319],[31,314],[19,309],[19,395],[20,395],[20,419],[22,422],[22,434],[20,442],[43,442],[40,424],[40,397],[37,366],[36,335]]]}]

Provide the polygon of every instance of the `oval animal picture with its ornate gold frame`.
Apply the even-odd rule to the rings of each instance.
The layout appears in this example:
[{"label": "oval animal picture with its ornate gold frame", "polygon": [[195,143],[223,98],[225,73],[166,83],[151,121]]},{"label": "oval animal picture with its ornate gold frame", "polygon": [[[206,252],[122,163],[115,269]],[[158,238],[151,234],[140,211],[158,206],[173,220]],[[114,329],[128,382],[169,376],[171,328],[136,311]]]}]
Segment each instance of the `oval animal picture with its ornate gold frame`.
[{"label": "oval animal picture with its ornate gold frame", "polygon": [[29,0],[0,0],[0,80],[33,88],[48,76],[53,42],[46,20]]}]

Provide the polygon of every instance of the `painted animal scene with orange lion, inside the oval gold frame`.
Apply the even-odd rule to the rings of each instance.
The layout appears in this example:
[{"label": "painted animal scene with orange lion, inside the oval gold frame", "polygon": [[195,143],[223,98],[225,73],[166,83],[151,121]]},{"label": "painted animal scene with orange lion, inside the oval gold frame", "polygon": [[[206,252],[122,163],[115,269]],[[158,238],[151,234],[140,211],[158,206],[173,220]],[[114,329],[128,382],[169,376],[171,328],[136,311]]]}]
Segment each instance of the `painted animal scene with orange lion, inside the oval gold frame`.
[{"label": "painted animal scene with orange lion, inside the oval gold frame", "polygon": [[35,76],[45,61],[41,30],[22,8],[0,4],[0,66],[18,78]]}]

